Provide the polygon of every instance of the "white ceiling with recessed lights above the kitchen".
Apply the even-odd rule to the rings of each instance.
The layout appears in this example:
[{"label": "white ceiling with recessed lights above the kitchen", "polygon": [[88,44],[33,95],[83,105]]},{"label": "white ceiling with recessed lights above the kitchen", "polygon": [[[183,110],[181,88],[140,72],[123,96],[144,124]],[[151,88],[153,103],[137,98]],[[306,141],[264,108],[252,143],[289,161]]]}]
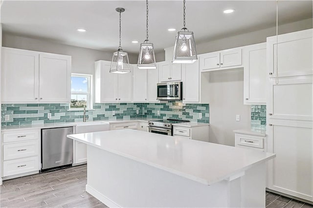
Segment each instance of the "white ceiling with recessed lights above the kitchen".
[{"label": "white ceiling with recessed lights above the kitchen", "polygon": [[[116,50],[118,13],[122,13],[122,47],[137,52],[145,40],[144,0],[4,0],[1,6],[3,31],[26,37],[47,39],[68,45]],[[235,9],[224,14],[227,8]],[[312,18],[312,0],[280,0],[279,24]],[[186,26],[196,43],[265,29],[276,25],[276,0],[187,0]],[[149,40],[156,50],[174,45],[182,27],[182,0],[149,1]],[[77,28],[86,28],[79,33]],[[139,43],[132,43],[138,40]]]}]

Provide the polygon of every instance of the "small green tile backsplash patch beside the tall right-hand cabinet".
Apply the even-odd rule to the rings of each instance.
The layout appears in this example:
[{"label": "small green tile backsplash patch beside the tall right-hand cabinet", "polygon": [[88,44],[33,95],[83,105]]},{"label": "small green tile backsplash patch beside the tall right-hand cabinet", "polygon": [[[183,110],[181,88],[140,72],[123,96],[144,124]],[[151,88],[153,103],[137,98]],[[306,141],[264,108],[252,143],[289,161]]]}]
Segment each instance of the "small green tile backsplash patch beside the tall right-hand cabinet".
[{"label": "small green tile backsplash patch beside the tall right-hand cabinet", "polygon": [[251,128],[266,129],[266,105],[251,105]]}]

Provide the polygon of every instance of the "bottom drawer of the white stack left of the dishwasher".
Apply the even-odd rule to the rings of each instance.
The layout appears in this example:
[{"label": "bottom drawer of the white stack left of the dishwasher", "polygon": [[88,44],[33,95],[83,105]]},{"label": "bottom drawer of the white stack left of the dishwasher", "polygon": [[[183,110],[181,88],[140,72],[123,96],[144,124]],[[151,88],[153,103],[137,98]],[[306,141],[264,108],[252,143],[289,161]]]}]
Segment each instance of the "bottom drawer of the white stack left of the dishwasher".
[{"label": "bottom drawer of the white stack left of the dishwasher", "polygon": [[3,177],[39,170],[38,156],[3,162]]}]

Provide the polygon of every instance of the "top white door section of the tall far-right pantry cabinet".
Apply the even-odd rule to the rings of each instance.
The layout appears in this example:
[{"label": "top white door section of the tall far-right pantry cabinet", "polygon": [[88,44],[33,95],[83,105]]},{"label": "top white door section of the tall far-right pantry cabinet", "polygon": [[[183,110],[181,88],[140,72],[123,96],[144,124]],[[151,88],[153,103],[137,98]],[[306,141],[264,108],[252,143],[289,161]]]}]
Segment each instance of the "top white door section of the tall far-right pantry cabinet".
[{"label": "top white door section of the tall far-right pantry cabinet", "polygon": [[[268,74],[276,77],[312,75],[313,29],[287,33],[278,36],[278,51],[276,36],[267,38]],[[277,62],[278,57],[278,62]]]}]

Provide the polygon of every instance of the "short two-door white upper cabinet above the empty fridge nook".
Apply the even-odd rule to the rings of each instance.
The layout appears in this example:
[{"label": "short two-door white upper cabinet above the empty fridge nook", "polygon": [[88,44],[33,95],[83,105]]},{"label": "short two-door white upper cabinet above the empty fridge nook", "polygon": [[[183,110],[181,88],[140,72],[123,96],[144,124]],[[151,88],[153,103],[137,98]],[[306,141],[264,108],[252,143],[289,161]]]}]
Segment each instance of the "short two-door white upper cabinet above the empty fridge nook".
[{"label": "short two-door white upper cabinet above the empty fridge nook", "polygon": [[242,49],[233,48],[199,55],[201,71],[215,71],[242,66]]}]

